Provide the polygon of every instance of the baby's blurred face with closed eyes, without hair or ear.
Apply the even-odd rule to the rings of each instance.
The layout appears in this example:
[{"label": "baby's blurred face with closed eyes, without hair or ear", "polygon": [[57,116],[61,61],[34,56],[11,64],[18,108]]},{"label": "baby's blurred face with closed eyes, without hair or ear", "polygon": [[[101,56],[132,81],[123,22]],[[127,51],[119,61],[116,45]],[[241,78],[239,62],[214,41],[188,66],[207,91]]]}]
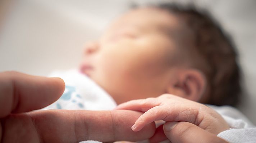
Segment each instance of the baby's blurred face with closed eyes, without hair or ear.
[{"label": "baby's blurred face with closed eyes, without hair or ear", "polygon": [[114,21],[99,41],[88,44],[81,71],[118,104],[164,94],[177,53],[166,31],[177,27],[178,21],[165,11],[132,10]]}]

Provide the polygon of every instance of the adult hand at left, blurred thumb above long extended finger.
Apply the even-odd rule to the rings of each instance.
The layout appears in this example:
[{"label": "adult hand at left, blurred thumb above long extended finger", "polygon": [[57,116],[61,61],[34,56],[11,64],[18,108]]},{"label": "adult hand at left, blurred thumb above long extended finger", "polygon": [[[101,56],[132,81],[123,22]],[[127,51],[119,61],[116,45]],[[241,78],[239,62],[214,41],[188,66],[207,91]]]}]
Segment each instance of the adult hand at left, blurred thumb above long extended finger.
[{"label": "adult hand at left, blurred thumb above long extended finger", "polygon": [[132,141],[150,138],[151,124],[140,133],[131,130],[140,112],[86,110],[32,110],[43,108],[63,93],[60,78],[44,78],[18,72],[0,73],[0,140],[9,142]]}]

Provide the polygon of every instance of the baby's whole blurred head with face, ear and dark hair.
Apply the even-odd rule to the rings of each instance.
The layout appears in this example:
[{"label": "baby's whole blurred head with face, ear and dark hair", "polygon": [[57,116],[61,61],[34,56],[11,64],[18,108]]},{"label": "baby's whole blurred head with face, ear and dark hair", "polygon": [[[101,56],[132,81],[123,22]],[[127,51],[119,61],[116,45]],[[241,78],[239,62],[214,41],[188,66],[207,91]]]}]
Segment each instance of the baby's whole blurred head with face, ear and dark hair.
[{"label": "baby's whole blurred head with face, ear and dark hair", "polygon": [[86,46],[81,65],[117,104],[169,93],[236,105],[239,68],[231,41],[209,17],[160,5],[134,9]]}]

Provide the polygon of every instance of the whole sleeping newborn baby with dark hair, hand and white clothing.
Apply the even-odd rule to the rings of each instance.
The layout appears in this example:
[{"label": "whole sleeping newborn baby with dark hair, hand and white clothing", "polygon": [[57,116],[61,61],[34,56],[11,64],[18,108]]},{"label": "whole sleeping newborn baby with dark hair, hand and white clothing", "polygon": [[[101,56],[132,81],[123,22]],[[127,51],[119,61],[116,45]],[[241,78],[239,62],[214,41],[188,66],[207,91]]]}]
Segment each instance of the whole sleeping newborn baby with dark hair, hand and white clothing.
[{"label": "whole sleeping newborn baby with dark hair, hand and white clothing", "polygon": [[[157,120],[186,121],[227,141],[227,131],[253,127],[236,109],[212,106],[238,103],[239,67],[232,41],[205,12],[169,3],[135,8],[83,55],[79,71],[51,75],[66,89],[44,109],[136,110],[144,114],[135,132]],[[167,139],[157,126],[151,142]]]}]

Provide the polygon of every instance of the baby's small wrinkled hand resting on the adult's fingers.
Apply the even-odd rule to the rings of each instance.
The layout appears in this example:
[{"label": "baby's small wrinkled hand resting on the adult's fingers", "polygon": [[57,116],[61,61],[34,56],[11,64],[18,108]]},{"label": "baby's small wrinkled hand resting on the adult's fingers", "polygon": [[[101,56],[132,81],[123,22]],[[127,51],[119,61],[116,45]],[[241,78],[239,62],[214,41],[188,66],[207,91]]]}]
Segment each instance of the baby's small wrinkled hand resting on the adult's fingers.
[{"label": "baby's small wrinkled hand resting on the adult's fingers", "polygon": [[132,100],[118,105],[115,109],[145,112],[132,126],[135,132],[155,120],[190,122],[215,135],[229,129],[227,122],[213,109],[171,94],[163,94],[157,98]]}]

